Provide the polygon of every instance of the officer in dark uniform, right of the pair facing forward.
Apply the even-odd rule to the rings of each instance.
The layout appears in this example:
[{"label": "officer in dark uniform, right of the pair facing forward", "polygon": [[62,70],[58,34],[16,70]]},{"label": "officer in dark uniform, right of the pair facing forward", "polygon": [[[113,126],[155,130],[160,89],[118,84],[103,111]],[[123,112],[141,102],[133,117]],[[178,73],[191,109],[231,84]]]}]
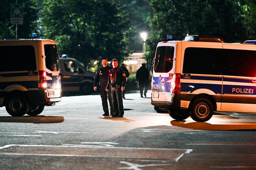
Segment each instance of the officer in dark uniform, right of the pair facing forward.
[{"label": "officer in dark uniform, right of the pair facing forward", "polygon": [[[113,69],[109,72],[106,91],[111,91],[114,113],[111,117],[124,117],[124,106],[122,104],[122,91],[126,85],[124,70],[118,67],[117,59],[112,60]],[[109,89],[111,88],[111,90]]]}]

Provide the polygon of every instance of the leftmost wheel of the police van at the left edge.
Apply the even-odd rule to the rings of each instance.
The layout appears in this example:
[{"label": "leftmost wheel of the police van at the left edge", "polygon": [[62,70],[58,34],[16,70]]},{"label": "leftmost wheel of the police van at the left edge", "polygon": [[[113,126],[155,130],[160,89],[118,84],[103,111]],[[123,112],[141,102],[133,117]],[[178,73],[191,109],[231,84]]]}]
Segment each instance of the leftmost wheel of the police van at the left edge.
[{"label": "leftmost wheel of the police van at the left edge", "polygon": [[6,111],[11,116],[23,116],[28,112],[28,101],[24,97],[9,97],[6,102]]}]

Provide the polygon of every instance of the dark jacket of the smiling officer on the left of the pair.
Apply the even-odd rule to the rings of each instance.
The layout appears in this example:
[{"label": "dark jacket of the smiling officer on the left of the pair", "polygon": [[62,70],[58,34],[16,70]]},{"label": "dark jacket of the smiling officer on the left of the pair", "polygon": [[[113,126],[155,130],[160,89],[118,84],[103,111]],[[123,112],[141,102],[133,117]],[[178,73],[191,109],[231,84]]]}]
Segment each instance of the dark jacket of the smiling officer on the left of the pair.
[{"label": "dark jacket of the smiling officer on the left of the pair", "polygon": [[112,67],[106,66],[106,67],[99,67],[96,71],[95,79],[93,82],[93,86],[97,86],[97,84],[101,85],[107,85],[108,84],[108,75],[109,75],[109,70],[111,70]]}]

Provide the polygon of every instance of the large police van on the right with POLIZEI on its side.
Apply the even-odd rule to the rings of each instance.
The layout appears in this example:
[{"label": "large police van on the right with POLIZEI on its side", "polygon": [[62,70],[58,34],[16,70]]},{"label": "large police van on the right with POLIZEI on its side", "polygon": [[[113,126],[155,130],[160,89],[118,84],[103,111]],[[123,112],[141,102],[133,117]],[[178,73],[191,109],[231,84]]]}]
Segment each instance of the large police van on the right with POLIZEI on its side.
[{"label": "large police van on the right with POLIZEI on its side", "polygon": [[213,112],[256,113],[256,45],[219,37],[167,36],[156,48],[151,104],[176,120],[208,121]]}]

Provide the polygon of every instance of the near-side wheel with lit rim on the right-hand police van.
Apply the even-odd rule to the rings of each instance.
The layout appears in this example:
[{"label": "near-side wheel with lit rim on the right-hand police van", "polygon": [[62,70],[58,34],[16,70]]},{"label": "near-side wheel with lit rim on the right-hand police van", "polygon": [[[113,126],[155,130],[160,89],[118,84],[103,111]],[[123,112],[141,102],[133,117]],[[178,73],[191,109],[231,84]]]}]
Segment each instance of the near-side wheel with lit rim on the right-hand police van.
[{"label": "near-side wheel with lit rim on the right-hand police van", "polygon": [[192,110],[189,114],[194,121],[206,122],[213,115],[213,105],[208,99],[196,99],[192,104]]}]

